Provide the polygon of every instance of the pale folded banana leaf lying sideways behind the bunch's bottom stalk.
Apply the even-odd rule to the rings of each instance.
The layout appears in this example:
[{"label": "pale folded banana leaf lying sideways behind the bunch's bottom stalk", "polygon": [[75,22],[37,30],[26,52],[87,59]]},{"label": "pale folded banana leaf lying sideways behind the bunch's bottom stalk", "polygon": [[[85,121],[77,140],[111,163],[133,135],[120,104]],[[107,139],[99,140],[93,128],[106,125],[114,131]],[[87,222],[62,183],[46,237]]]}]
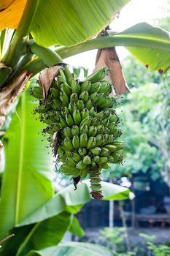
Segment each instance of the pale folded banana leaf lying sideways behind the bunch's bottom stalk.
[{"label": "pale folded banana leaf lying sideways behind the bunch's bottom stalk", "polygon": [[[120,187],[108,182],[101,182],[104,200],[124,200],[133,198],[134,194],[125,187]],[[30,214],[26,219],[23,219],[18,223],[18,227],[23,225],[29,225],[31,223],[41,222],[61,214],[62,211],[68,211],[71,214],[76,214],[85,203],[91,200],[90,196],[90,182],[88,180],[82,181],[77,186],[77,190],[74,191],[74,186],[70,185],[61,192],[58,192],[47,201],[43,206],[40,206],[34,213]]]}]

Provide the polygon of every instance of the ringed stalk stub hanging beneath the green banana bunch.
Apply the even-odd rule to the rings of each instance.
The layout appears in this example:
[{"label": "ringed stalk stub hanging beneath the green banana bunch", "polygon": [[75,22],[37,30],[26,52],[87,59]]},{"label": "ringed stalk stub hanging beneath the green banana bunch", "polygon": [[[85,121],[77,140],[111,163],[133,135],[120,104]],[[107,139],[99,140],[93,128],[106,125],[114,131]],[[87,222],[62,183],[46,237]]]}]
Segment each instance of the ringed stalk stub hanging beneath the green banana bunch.
[{"label": "ringed stalk stub hanging beneath the green banana bunch", "polygon": [[102,189],[101,189],[101,169],[93,167],[93,168],[90,168],[90,170],[88,170],[88,173],[90,175],[90,184],[91,184],[90,194],[95,199],[101,199],[103,197]]}]

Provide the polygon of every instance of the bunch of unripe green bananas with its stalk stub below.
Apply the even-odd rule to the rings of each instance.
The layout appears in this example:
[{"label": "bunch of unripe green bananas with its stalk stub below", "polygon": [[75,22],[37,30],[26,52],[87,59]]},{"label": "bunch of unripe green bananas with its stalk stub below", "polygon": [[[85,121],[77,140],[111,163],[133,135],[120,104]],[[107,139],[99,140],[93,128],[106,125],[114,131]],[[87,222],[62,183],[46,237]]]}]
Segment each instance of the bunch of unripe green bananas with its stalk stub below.
[{"label": "bunch of unripe green bananas with its stalk stub below", "polygon": [[43,132],[50,135],[50,145],[62,162],[61,171],[72,176],[75,186],[89,174],[91,194],[98,199],[102,197],[101,169],[123,161],[123,143],[117,140],[120,118],[113,109],[115,98],[109,97],[113,85],[103,80],[108,72],[103,67],[80,81],[63,67],[45,103],[41,84],[31,89],[32,96],[39,99],[35,113],[47,124]]}]

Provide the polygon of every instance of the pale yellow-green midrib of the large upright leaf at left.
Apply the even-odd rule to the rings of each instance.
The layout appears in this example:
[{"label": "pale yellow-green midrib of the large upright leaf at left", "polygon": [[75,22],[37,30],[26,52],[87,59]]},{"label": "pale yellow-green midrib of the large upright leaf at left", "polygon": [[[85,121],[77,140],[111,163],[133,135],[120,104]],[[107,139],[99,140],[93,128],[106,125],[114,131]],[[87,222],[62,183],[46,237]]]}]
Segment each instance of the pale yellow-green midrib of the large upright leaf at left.
[{"label": "pale yellow-green midrib of the large upright leaf at left", "polygon": [[18,184],[16,192],[16,211],[15,211],[15,225],[20,222],[20,190],[22,184],[22,170],[24,160],[24,147],[25,147],[25,132],[26,132],[26,94],[21,96],[21,116],[20,116],[20,154],[19,154],[19,165],[18,165]]}]

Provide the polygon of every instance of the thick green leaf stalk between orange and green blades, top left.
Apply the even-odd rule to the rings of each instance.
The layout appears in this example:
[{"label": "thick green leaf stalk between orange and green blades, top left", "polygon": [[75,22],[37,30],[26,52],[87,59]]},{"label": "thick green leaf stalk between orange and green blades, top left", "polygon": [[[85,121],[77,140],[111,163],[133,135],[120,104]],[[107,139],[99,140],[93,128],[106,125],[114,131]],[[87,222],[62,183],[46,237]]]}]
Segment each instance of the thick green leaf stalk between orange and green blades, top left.
[{"label": "thick green leaf stalk between orange and green blades, top left", "polygon": [[27,0],[18,29],[16,29],[12,37],[7,53],[1,60],[7,66],[12,67],[12,69],[18,64],[20,57],[27,52],[28,34],[38,5],[39,0]]}]

